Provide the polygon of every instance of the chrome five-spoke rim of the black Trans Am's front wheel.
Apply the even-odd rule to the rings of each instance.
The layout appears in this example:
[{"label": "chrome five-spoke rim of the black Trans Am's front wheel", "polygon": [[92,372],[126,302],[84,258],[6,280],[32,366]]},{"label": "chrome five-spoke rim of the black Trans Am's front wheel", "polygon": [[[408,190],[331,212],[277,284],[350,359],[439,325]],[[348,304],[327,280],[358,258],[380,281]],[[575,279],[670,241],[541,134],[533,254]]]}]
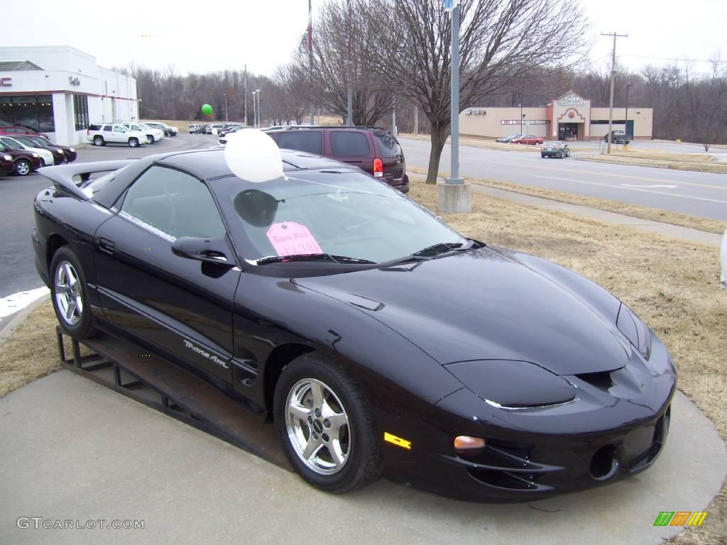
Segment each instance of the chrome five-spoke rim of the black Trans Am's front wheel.
[{"label": "chrome five-spoke rim of the black Trans Am's front wheel", "polygon": [[316,379],[294,384],[286,399],[286,430],[297,456],[313,472],[340,472],[351,453],[348,415],[335,392]]}]

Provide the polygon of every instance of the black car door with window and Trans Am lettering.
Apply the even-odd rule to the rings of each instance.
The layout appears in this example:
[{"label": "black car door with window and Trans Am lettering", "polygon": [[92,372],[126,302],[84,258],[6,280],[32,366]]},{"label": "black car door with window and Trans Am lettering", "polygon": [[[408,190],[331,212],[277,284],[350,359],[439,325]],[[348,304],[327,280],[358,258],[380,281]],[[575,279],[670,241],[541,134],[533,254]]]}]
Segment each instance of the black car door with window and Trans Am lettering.
[{"label": "black car door with window and Trans Am lettering", "polygon": [[231,382],[240,270],[173,254],[184,236],[225,238],[212,195],[190,174],[151,166],[95,233],[101,306],[115,326]]}]

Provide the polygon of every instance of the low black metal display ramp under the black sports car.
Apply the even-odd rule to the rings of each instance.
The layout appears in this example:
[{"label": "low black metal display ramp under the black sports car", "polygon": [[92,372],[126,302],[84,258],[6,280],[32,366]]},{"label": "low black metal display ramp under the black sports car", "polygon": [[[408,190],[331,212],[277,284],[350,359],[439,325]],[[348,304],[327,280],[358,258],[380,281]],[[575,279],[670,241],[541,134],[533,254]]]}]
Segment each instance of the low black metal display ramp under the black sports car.
[{"label": "low black metal display ramp under the black sports car", "polygon": [[[212,384],[108,333],[79,341],[56,326],[56,335],[60,364],[68,371],[292,470],[275,427]],[[71,357],[64,339],[71,344]],[[81,355],[81,346],[91,353]]]}]

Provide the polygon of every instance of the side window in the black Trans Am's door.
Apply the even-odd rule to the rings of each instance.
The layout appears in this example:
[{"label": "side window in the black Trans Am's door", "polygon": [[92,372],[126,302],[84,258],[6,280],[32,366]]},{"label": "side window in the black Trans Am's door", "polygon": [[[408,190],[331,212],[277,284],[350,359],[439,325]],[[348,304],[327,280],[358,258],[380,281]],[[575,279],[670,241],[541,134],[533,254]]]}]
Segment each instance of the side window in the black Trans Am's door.
[{"label": "side window in the black Trans Am's door", "polygon": [[129,187],[121,211],[171,238],[225,236],[212,195],[190,174],[152,166]]}]

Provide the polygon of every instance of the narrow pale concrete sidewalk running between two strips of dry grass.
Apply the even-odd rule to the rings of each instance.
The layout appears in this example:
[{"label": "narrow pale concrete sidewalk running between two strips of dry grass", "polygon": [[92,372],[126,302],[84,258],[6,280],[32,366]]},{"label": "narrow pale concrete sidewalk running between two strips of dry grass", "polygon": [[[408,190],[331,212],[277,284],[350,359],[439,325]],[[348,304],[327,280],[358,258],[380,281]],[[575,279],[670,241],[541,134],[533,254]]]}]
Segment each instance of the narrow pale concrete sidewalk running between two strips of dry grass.
[{"label": "narrow pale concrete sidewalk running between two strips of dry grass", "polygon": [[[408,174],[410,178],[414,177],[416,179],[425,179],[425,176],[422,174],[411,172]],[[484,193],[507,201],[513,201],[515,203],[562,210],[569,214],[597,219],[601,222],[607,222],[614,225],[626,225],[628,227],[635,227],[640,230],[648,231],[649,233],[659,233],[659,235],[680,238],[683,241],[707,244],[708,246],[720,246],[720,243],[722,243],[722,235],[716,235],[715,233],[707,233],[706,231],[680,227],[679,225],[672,225],[670,223],[654,222],[651,219],[641,219],[638,217],[626,216],[624,214],[616,214],[616,212],[591,208],[590,206],[563,203],[550,198],[535,197],[533,195],[523,195],[523,193],[497,189],[495,187],[489,187],[488,185],[481,185],[478,183],[472,184],[472,190],[475,193]]]}]

